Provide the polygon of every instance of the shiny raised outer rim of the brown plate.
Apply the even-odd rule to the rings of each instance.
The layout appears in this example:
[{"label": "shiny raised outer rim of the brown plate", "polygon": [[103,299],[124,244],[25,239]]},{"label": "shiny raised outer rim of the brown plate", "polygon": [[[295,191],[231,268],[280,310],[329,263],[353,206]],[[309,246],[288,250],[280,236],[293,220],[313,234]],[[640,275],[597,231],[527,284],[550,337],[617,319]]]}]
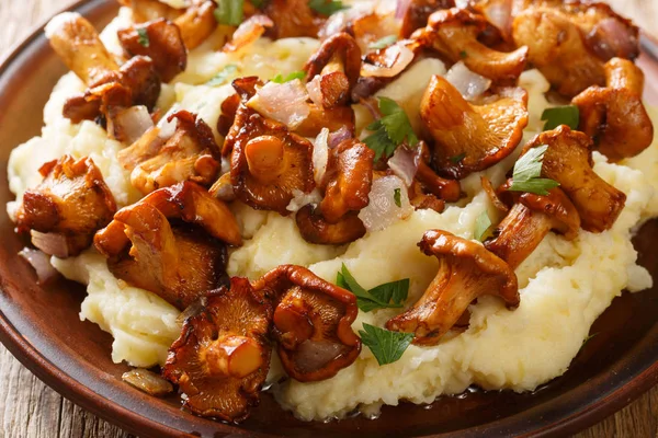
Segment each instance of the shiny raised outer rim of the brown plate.
[{"label": "shiny raised outer rim of the brown plate", "polygon": [[[80,12],[84,15],[87,9],[91,9],[95,3],[101,3],[103,1],[106,0],[78,0],[68,8],[63,9],[60,12]],[[43,34],[48,20],[34,26],[29,33],[29,36],[10,48],[8,50],[9,54],[0,59],[0,78],[7,73],[16,58],[19,58],[20,55]],[[655,62],[658,62],[658,39],[644,34],[642,37],[642,46],[644,51],[649,55]],[[4,279],[0,277],[0,293],[5,287]],[[90,388],[80,383],[72,376],[66,373],[39,353],[39,350],[9,321],[2,309],[0,309],[0,342],[23,366],[63,396],[129,433],[154,437],[194,436],[141,416],[129,408],[93,392]],[[540,422],[537,422],[536,428],[532,428],[531,426],[530,431],[517,436],[553,437],[577,433],[622,410],[656,384],[658,384],[658,361],[651,364],[643,371],[637,372],[627,382],[622,383],[610,391],[606,396],[599,399],[595,402],[582,403],[581,406],[575,410],[570,415],[543,427],[538,424]],[[479,426],[477,429],[479,429],[478,431],[481,436],[490,436],[487,435],[487,429],[496,428],[500,430],[500,427],[496,426],[502,426],[502,423],[510,418],[511,417],[501,418]],[[222,423],[216,424],[216,431],[218,433],[217,436],[224,434],[245,434],[245,430],[240,429],[239,426]],[[440,437],[447,436],[447,434],[432,436]]]}]

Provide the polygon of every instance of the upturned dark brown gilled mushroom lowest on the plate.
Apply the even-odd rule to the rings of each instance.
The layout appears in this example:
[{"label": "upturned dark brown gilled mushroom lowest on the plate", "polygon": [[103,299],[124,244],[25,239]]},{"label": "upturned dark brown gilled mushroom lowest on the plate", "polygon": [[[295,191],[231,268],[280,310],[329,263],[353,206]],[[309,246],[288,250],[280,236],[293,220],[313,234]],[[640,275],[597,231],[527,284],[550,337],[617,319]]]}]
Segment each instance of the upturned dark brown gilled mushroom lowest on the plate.
[{"label": "upturned dark brown gilled mushroom lowest on the plate", "polygon": [[169,349],[163,376],[185,394],[183,406],[227,422],[247,418],[258,405],[272,348],[272,307],[246,278],[231,278],[202,299]]}]

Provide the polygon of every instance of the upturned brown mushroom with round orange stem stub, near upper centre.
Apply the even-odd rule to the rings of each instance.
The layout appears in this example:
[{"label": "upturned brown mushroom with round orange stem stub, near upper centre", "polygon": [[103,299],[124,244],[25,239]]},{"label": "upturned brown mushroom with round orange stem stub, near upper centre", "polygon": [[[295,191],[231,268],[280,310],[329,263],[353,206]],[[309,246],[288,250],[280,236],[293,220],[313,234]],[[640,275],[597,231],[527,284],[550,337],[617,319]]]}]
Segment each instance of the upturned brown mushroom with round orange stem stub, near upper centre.
[{"label": "upturned brown mushroom with round orange stem stub, near upper centre", "polygon": [[256,209],[287,215],[294,192],[309,193],[315,187],[313,145],[243,105],[224,150],[232,151],[230,178],[236,197]]}]

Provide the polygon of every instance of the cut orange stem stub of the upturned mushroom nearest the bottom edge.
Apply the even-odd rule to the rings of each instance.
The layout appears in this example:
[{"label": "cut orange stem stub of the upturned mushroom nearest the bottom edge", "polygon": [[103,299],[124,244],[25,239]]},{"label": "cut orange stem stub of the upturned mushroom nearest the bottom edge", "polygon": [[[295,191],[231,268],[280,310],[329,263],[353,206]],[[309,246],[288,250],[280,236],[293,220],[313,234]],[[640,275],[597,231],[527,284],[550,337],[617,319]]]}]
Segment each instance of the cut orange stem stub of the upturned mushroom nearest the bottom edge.
[{"label": "cut orange stem stub of the upturned mushroom nearest the bottom edge", "polygon": [[215,376],[241,379],[263,365],[263,353],[251,337],[225,335],[213,342],[205,350],[208,372]]}]

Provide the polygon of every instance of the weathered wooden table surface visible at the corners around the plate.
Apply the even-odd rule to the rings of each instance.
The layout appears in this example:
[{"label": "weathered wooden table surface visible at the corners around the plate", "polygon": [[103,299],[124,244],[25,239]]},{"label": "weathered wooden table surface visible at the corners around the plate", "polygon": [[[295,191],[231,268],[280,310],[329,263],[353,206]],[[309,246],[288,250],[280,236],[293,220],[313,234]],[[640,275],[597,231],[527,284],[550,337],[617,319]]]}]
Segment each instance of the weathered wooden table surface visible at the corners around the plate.
[{"label": "weathered wooden table surface visible at the corners around the plate", "polygon": [[[72,0],[0,0],[0,55]],[[611,0],[644,28],[655,30],[656,0]],[[76,406],[42,383],[0,345],[0,437],[124,438],[131,435]],[[578,438],[658,437],[658,388]]]}]

